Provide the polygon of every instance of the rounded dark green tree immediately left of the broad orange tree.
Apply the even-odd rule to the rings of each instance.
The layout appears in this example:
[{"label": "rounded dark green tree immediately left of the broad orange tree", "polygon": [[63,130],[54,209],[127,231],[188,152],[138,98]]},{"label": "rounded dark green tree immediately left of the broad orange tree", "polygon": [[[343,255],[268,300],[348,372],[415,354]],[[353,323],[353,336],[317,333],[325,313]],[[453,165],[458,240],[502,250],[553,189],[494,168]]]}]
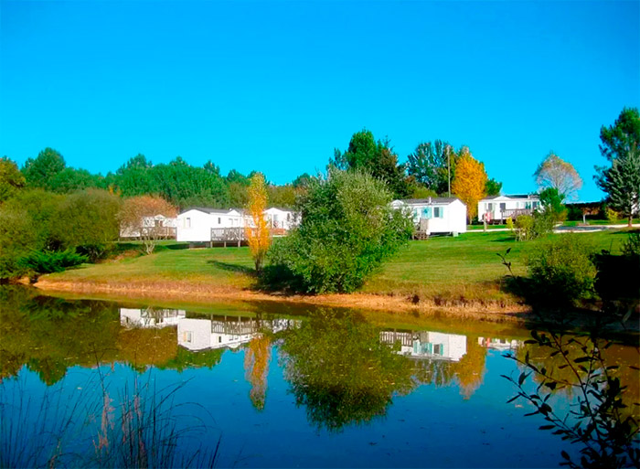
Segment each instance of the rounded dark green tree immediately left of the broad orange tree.
[{"label": "rounded dark green tree immediately left of the broad orange tree", "polygon": [[442,140],[421,143],[408,156],[407,173],[428,189],[438,194],[449,194],[456,156],[453,147]]}]

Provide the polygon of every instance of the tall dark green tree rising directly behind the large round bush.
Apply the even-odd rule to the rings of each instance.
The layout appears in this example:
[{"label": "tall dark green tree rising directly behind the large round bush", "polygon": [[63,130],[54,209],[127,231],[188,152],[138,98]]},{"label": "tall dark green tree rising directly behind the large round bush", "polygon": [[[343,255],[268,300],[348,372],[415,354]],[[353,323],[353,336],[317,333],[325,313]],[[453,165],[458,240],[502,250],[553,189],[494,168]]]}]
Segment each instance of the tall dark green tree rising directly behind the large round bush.
[{"label": "tall dark green tree rising directly behind the large round bush", "polygon": [[389,140],[376,141],[367,129],[354,133],[345,153],[336,150],[330,166],[338,169],[366,171],[387,184],[395,198],[409,195],[409,182],[404,175],[404,165],[398,164]]}]

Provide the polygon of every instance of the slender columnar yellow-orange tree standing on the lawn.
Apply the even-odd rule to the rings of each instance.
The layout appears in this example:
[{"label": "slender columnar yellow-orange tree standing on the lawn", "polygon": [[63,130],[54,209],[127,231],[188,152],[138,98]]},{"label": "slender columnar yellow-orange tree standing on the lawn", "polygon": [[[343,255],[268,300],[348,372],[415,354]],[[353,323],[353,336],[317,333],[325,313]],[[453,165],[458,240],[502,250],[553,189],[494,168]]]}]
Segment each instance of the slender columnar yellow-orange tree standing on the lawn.
[{"label": "slender columnar yellow-orange tree standing on the lawn", "polygon": [[247,212],[251,217],[251,225],[246,226],[245,231],[249,240],[249,249],[255,262],[256,272],[262,272],[264,256],[271,245],[271,236],[267,219],[264,218],[264,210],[267,208],[267,185],[264,176],[256,173],[251,176],[251,185],[248,190],[249,201]]}]

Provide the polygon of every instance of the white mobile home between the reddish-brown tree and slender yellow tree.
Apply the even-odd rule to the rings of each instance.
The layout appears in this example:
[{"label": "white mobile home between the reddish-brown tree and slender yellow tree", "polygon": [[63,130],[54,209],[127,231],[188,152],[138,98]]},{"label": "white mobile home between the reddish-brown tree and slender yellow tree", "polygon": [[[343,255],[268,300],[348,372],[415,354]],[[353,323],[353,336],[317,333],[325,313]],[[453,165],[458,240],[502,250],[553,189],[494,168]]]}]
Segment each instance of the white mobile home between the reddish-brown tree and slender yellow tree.
[{"label": "white mobile home between the reddish-brown tree and slender yellow tree", "polygon": [[190,208],[177,216],[176,240],[209,242],[212,228],[241,228],[244,219],[235,208]]}]

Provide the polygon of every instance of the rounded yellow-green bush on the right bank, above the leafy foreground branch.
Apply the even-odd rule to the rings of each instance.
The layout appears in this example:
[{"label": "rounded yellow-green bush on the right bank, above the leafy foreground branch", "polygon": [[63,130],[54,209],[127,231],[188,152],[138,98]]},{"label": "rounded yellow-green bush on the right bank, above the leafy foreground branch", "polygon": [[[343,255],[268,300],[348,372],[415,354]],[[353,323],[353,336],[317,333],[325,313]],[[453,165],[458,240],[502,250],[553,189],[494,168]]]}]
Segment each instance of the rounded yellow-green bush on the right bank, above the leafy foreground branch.
[{"label": "rounded yellow-green bush on the right bank, above the leafy foreground branch", "polygon": [[541,243],[527,259],[532,282],[554,304],[571,304],[593,293],[596,268],[592,248],[580,235],[561,235]]}]

